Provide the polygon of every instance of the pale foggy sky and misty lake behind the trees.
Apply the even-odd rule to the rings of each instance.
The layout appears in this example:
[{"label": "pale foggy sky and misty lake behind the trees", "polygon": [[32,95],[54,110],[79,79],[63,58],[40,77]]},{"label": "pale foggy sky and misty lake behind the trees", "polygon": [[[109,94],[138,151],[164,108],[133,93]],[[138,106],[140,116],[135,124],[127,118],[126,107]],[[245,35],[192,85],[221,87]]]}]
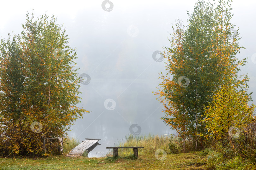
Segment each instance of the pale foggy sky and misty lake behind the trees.
[{"label": "pale foggy sky and misty lake behind the trees", "polygon": [[[81,84],[81,104],[91,113],[84,114],[71,127],[72,137],[101,139],[89,156],[102,156],[125,135],[130,126],[139,135],[174,134],[161,120],[163,106],[152,91],[158,87],[159,72],[166,73],[165,63],[152,54],[169,47],[168,31],[175,20],[185,22],[196,0],[121,1],[5,1],[0,5],[0,37],[14,31],[19,34],[27,11],[37,18],[55,15],[64,24],[71,48],[76,48],[78,75],[88,75]],[[252,99],[256,100],[256,1],[234,0],[231,22],[239,28],[242,49],[239,59],[247,58],[241,73],[248,73]],[[160,55],[156,55],[159,59]],[[161,59],[161,58],[160,58]],[[253,102],[254,102],[253,101]],[[104,105],[105,102],[105,105]],[[140,129],[141,128],[141,129]]]}]

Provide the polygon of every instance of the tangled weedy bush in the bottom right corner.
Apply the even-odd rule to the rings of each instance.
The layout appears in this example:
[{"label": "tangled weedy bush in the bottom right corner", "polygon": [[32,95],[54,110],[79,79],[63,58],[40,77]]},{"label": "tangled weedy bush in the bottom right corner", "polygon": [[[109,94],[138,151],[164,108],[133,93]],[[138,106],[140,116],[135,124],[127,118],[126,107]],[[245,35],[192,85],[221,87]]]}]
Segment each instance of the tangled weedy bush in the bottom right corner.
[{"label": "tangled weedy bush in the bottom right corner", "polygon": [[256,124],[247,124],[236,139],[217,141],[205,155],[210,168],[256,169]]}]

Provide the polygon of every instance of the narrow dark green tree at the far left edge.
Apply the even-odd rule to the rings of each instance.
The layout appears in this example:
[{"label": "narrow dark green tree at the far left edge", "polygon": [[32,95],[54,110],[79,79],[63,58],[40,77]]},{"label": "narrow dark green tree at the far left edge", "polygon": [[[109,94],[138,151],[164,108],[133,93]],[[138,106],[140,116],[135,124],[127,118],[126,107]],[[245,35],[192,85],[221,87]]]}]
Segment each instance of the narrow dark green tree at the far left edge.
[{"label": "narrow dark green tree at the far left edge", "polygon": [[0,47],[0,148],[1,154],[8,154],[10,145],[6,144],[12,144],[12,151],[16,153],[17,145],[20,142],[19,135],[16,134],[23,133],[21,127],[24,125],[25,116],[20,107],[20,92],[24,90],[25,77],[21,69],[21,63],[23,63],[21,46],[15,41],[15,38],[11,39],[8,34],[6,42],[1,40]]}]

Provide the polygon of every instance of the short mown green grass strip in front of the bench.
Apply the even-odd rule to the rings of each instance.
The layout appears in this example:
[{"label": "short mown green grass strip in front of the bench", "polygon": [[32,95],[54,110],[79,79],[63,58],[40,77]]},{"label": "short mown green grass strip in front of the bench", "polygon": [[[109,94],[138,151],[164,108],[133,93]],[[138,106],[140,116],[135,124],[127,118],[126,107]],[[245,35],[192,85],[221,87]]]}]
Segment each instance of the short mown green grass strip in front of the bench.
[{"label": "short mown green grass strip in front of the bench", "polygon": [[163,161],[157,160],[154,154],[132,155],[125,157],[65,157],[47,158],[0,158],[0,169],[207,169],[205,156],[199,152],[168,154]]}]

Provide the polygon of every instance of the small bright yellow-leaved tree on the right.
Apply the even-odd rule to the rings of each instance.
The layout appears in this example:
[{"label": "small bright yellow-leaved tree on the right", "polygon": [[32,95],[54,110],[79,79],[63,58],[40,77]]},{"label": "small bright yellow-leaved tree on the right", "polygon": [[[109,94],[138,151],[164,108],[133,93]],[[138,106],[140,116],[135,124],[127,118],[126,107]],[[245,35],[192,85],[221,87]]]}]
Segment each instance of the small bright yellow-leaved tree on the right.
[{"label": "small bright yellow-leaved tree on the right", "polygon": [[253,122],[256,106],[253,104],[249,106],[249,101],[250,95],[247,94],[246,88],[238,90],[234,85],[222,85],[214,94],[211,104],[205,107],[205,118],[202,122],[209,132],[205,134],[206,138],[224,140],[228,137],[232,126],[244,129],[247,123]]}]

